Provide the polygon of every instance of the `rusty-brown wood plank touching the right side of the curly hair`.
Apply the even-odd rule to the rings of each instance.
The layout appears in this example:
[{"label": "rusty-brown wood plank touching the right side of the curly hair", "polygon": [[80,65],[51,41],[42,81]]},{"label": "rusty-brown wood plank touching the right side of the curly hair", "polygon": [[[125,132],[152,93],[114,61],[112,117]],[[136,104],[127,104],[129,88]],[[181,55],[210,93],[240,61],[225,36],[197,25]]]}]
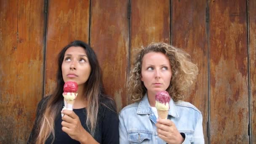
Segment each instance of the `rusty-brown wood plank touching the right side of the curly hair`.
[{"label": "rusty-brown wood plank touching the right side of the curly hair", "polygon": [[199,75],[185,94],[185,101],[194,104],[203,115],[203,132],[208,143],[208,35],[205,0],[173,0],[171,43],[184,49],[197,65]]}]

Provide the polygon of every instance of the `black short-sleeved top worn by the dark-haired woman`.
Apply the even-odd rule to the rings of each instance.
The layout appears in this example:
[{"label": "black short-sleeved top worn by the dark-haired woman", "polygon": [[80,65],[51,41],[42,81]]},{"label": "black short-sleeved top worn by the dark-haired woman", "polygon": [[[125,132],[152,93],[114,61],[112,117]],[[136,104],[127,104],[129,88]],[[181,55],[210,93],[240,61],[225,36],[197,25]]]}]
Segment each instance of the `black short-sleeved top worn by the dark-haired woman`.
[{"label": "black short-sleeved top worn by the dark-haired woman", "polygon": [[[37,123],[38,123],[38,120],[40,119],[39,116],[42,115],[42,112],[43,112],[42,105],[46,104],[45,102],[47,101],[46,98],[43,98],[38,104],[35,124],[30,133],[27,144],[35,143]],[[60,110],[61,109],[62,107],[60,107]],[[91,134],[91,132],[89,131],[86,125],[86,117],[87,117],[86,109],[85,108],[73,109],[73,111],[79,117],[83,128],[85,128],[85,130]],[[61,130],[62,128],[61,122],[62,122],[61,113],[59,113],[59,115],[56,117],[56,120],[55,120],[55,128],[54,128],[55,139],[53,141],[53,144],[80,144],[79,141],[72,139],[67,133]],[[96,129],[95,129],[93,138],[96,141],[98,141],[100,144],[119,144],[117,112],[107,108],[103,104],[100,104],[100,107],[99,107],[98,120],[97,120]],[[51,141],[52,141],[52,136],[50,136],[45,141],[45,144],[51,144]]]}]

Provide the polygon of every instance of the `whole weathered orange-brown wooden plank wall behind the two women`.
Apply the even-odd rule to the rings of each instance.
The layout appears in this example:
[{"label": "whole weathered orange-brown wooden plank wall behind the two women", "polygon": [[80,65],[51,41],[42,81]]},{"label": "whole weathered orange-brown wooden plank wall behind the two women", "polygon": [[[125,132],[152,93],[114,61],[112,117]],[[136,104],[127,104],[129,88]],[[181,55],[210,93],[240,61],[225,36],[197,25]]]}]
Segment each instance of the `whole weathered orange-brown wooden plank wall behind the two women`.
[{"label": "whole weathered orange-brown wooden plank wall behind the two women", "polygon": [[0,0],[0,144],[26,143],[73,40],[96,51],[118,110],[142,46],[184,49],[199,68],[185,100],[203,114],[205,143],[256,143],[255,32],[255,0]]}]

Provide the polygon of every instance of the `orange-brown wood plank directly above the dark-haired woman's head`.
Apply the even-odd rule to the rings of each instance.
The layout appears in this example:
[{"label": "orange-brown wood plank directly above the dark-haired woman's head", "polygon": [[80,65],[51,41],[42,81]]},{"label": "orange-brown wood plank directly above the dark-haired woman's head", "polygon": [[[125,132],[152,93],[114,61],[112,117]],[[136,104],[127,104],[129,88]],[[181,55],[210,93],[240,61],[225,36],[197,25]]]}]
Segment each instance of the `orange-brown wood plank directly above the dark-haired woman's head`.
[{"label": "orange-brown wood plank directly above the dark-haired woman's head", "polygon": [[45,58],[45,93],[56,86],[57,56],[73,40],[89,40],[89,0],[59,0],[48,2],[47,44]]}]

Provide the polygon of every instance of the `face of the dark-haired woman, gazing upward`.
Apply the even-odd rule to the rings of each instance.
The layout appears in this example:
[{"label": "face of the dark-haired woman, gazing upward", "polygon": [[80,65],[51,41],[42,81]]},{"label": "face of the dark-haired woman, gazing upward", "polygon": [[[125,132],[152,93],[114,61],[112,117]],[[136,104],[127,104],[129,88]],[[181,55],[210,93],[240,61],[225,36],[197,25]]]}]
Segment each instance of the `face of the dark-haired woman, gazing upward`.
[{"label": "face of the dark-haired woman, gazing upward", "polygon": [[91,73],[85,49],[74,46],[68,48],[64,54],[61,70],[64,82],[75,81],[78,85],[83,85]]}]

